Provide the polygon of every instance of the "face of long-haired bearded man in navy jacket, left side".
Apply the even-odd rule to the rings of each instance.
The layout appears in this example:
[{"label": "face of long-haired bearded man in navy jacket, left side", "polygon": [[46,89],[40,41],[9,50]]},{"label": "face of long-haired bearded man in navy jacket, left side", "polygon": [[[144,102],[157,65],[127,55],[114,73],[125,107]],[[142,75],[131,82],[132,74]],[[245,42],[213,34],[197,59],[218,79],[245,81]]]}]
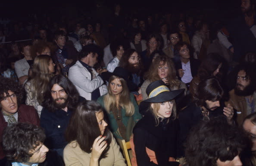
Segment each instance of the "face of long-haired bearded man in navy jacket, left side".
[{"label": "face of long-haired bearded man in navy jacket, left side", "polygon": [[51,95],[56,104],[63,104],[68,98],[68,94],[66,94],[65,90],[58,84],[53,85]]}]

